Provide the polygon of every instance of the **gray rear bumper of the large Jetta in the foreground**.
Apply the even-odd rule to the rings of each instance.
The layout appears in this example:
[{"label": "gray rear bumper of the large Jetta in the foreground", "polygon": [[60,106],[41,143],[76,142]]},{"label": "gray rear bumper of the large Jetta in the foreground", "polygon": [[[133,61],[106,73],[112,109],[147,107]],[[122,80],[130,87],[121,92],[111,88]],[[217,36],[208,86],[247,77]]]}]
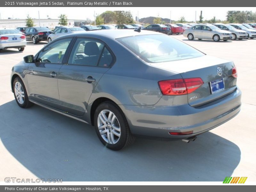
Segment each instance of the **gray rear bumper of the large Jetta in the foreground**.
[{"label": "gray rear bumper of the large Jetta in the foreground", "polygon": [[[241,108],[241,91],[200,108],[180,106],[123,106],[131,132],[136,135],[184,139],[207,132],[236,116]],[[188,132],[189,135],[170,135],[169,132]]]}]

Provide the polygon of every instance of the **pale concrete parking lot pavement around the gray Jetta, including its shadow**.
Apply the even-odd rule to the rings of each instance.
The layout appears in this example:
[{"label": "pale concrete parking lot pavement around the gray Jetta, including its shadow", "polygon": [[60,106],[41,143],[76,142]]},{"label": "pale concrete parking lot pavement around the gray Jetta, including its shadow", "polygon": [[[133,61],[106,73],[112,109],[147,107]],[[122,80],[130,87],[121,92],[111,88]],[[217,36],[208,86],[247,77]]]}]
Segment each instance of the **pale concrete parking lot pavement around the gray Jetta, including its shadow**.
[{"label": "pale concrete parking lot pavement around the gray Jetta, including its shadow", "polygon": [[5,177],[63,181],[256,181],[256,39],[193,40],[172,35],[200,51],[233,60],[242,91],[240,113],[190,143],[136,138],[121,151],[105,148],[94,127],[34,105],[18,107],[10,91],[12,66],[46,42],[24,52],[0,53],[0,181]]}]

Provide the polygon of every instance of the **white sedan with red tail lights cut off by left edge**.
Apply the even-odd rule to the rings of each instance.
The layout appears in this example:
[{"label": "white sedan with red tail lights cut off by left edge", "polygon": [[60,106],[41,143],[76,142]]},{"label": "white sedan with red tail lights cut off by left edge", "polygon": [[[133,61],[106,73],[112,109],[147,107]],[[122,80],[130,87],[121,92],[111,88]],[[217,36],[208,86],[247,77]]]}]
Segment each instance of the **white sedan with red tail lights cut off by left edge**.
[{"label": "white sedan with red tail lights cut off by left edge", "polygon": [[18,29],[0,29],[0,51],[9,48],[24,51],[26,45],[26,36]]}]

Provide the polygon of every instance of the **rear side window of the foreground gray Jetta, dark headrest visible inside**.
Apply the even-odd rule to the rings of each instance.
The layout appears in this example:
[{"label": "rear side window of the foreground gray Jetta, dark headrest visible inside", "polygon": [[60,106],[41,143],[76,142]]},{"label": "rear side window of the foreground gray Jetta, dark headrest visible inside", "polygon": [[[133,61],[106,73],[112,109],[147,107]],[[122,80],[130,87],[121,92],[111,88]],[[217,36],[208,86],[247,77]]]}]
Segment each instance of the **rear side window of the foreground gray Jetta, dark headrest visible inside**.
[{"label": "rear side window of the foreground gray Jetta, dark headrest visible inside", "polygon": [[77,38],[68,64],[109,67],[113,57],[104,43],[88,38]]}]

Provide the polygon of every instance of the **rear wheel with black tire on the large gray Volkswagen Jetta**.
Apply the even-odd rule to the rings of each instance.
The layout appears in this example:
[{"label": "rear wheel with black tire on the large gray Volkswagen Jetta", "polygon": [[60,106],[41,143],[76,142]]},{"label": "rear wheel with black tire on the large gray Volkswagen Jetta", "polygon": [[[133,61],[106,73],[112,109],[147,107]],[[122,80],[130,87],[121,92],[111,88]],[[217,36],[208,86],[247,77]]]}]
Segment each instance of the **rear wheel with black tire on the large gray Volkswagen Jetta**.
[{"label": "rear wheel with black tire on the large gray Volkswagen Jetta", "polygon": [[102,144],[111,150],[120,150],[135,140],[124,113],[112,102],[103,102],[96,108],[94,126]]}]

